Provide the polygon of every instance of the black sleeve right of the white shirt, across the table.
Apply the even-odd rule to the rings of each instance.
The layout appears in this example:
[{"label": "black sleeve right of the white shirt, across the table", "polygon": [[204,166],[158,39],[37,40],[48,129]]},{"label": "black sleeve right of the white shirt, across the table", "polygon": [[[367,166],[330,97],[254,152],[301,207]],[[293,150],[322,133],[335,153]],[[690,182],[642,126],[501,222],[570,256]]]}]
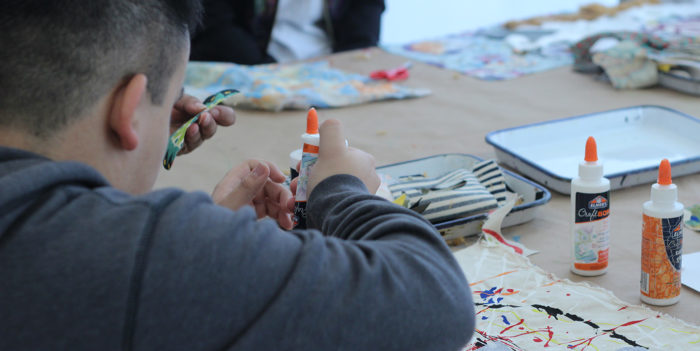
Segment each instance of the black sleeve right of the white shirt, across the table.
[{"label": "black sleeve right of the white shirt, across the table", "polygon": [[333,51],[377,46],[384,0],[351,0],[333,23]]}]

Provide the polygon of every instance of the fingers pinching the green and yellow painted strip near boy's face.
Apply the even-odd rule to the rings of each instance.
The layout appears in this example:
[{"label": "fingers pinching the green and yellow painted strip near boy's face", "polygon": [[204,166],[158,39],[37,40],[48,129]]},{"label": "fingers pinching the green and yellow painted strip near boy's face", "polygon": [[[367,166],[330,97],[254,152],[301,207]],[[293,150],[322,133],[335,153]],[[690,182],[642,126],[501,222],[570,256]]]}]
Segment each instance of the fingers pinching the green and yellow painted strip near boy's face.
[{"label": "fingers pinching the green and yellow painted strip near boy's face", "polygon": [[[170,134],[174,133],[190,118],[204,110],[204,104],[194,96],[183,95],[173,106],[173,111],[170,114]],[[182,149],[178,155],[186,154],[199,145],[202,145],[204,140],[211,138],[216,133],[217,125],[230,126],[236,121],[236,113],[228,106],[218,105],[211,110],[203,113],[197,119],[196,123],[187,128],[185,133],[185,142],[182,144]]]}]

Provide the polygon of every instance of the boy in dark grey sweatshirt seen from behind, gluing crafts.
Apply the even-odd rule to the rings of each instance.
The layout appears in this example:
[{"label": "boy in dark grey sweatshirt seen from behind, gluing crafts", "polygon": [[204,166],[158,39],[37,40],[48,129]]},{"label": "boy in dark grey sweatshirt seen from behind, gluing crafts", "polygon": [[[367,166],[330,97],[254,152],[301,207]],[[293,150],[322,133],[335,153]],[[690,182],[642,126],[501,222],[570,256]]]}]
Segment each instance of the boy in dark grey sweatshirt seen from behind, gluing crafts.
[{"label": "boy in dark grey sweatshirt seen from behind, gluing crafts", "polygon": [[[150,190],[172,120],[201,109],[181,97],[199,12],[193,0],[3,5],[0,350],[466,344],[471,292],[449,249],[371,195],[374,160],[337,121],[320,130],[312,229],[280,228],[293,198],[263,161],[231,170],[218,204]],[[232,123],[217,111],[190,148],[213,120]]]}]

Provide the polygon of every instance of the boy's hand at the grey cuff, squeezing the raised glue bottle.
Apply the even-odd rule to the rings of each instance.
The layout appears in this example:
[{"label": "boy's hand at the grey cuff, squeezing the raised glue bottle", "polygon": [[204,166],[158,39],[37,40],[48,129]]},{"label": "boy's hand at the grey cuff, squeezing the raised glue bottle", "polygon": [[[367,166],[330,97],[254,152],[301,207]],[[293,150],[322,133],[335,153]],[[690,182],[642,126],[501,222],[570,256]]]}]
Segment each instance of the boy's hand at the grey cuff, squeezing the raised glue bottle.
[{"label": "boy's hand at the grey cuff, squeezing the raised glue bottle", "polygon": [[380,179],[374,157],[360,149],[348,147],[338,120],[329,119],[319,128],[318,161],[309,173],[308,193],[322,180],[336,174],[350,174],[360,178],[367,190],[374,194]]}]

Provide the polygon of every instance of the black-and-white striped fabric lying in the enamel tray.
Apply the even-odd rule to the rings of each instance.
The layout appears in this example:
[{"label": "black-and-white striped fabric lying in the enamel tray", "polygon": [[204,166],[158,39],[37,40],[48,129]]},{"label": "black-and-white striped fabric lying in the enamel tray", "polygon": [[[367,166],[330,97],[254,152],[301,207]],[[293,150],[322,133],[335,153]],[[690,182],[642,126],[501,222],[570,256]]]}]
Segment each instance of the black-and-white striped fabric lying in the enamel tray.
[{"label": "black-and-white striped fabric lying in the enamel tray", "polygon": [[505,203],[506,184],[495,161],[480,162],[471,170],[455,169],[436,178],[401,177],[389,186],[394,198],[406,194],[408,206],[428,203],[421,212],[432,223],[440,223],[487,212]]}]

